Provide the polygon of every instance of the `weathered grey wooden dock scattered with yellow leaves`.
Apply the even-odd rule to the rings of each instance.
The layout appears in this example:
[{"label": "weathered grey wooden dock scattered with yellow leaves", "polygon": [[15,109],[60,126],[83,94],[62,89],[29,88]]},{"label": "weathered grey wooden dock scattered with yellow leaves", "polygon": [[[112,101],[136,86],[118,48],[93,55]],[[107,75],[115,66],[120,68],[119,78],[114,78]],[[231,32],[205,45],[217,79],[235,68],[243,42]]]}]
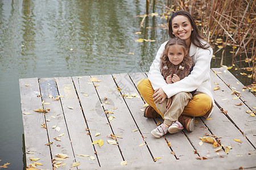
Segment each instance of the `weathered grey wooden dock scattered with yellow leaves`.
[{"label": "weathered grey wooden dock scattered with yellow leaves", "polygon": [[[143,117],[145,103],[136,88],[146,73],[19,79],[27,167],[256,168],[256,97],[228,70],[212,70],[212,89],[220,87],[213,91],[212,116],[197,117],[192,133],[159,139],[150,131],[163,120]],[[222,147],[202,137],[214,137]]]}]

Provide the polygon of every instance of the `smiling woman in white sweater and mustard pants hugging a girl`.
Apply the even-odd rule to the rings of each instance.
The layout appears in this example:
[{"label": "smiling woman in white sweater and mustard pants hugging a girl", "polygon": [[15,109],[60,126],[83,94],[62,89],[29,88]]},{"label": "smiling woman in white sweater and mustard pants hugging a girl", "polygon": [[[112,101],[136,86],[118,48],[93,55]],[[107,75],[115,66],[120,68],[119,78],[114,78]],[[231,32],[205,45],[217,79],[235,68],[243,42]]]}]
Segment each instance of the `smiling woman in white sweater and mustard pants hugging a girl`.
[{"label": "smiling woman in white sweater and mustard pants hugging a girl", "polygon": [[[169,21],[169,36],[179,37],[188,46],[188,53],[192,59],[193,70],[184,79],[176,83],[167,84],[160,72],[160,56],[163,53],[164,42],[156,54],[148,79],[139,81],[137,88],[143,99],[150,105],[145,109],[145,117],[163,117],[156,108],[155,103],[163,103],[179,92],[191,92],[196,90],[192,100],[184,108],[179,117],[179,122],[188,131],[193,130],[195,117],[209,117],[213,111],[214,100],[210,92],[210,60],[212,48],[203,40],[196,27],[196,23],[187,11],[176,11]],[[169,100],[170,101],[170,100]]]}]

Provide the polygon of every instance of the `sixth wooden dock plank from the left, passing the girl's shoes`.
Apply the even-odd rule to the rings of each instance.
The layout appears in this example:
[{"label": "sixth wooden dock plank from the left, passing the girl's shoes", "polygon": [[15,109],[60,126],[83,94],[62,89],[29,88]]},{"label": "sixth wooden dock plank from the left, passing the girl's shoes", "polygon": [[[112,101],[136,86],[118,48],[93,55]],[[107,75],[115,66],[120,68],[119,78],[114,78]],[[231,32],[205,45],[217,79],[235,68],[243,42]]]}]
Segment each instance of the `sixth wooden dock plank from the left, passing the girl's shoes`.
[{"label": "sixth wooden dock plank from the left, passing the girl's shoes", "polygon": [[[139,92],[134,86],[134,83],[131,81],[128,74],[113,74],[114,80],[117,83],[117,86],[121,88],[122,94],[137,94]],[[138,77],[138,75],[137,75]],[[164,138],[156,139],[151,134],[150,131],[155,129],[156,124],[154,119],[145,118],[143,116],[144,110],[143,101],[141,97],[133,97],[133,99],[123,98],[129,107],[129,110],[134,118],[135,123],[137,124],[139,131],[144,137],[144,140],[147,143],[148,148],[150,149],[151,154],[154,158],[162,157],[157,160],[157,162],[165,162],[170,160],[175,160],[175,156],[171,154],[170,147],[167,145],[167,142]]]}]

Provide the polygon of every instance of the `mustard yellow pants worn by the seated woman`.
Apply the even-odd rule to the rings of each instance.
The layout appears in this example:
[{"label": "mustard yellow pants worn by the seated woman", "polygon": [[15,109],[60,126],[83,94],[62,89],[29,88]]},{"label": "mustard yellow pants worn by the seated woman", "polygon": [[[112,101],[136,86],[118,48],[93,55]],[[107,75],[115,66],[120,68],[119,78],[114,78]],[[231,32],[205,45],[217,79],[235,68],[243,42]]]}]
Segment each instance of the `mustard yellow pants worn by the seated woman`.
[{"label": "mustard yellow pants worn by the seated woman", "polygon": [[[158,114],[163,117],[153,101],[154,90],[151,86],[150,80],[141,79],[137,84],[137,89],[143,99],[149,104],[152,108],[155,109]],[[192,117],[200,117],[209,114],[209,110],[212,107],[212,99],[207,94],[196,94],[193,96],[192,100],[189,100],[188,104],[185,106],[181,114]]]}]

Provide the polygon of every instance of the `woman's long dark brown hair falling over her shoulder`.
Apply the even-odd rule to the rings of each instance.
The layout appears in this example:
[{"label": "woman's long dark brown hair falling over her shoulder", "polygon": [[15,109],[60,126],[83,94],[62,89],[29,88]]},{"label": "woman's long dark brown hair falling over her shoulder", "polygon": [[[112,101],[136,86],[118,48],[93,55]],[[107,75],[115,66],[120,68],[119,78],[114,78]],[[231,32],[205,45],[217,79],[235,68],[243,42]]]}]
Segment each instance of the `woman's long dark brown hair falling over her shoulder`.
[{"label": "woman's long dark brown hair falling over her shoulder", "polygon": [[203,40],[203,37],[200,35],[199,30],[196,26],[195,20],[192,18],[191,14],[189,14],[188,11],[176,11],[174,14],[172,14],[170,20],[169,20],[169,36],[171,38],[174,38],[175,35],[172,34],[172,19],[175,18],[175,16],[177,15],[183,15],[185,17],[188,18],[189,22],[191,23],[191,26],[193,28],[193,31],[191,32],[191,42],[196,45],[197,47],[203,48],[203,49],[207,49],[210,47],[209,44],[203,44],[200,40]]}]

